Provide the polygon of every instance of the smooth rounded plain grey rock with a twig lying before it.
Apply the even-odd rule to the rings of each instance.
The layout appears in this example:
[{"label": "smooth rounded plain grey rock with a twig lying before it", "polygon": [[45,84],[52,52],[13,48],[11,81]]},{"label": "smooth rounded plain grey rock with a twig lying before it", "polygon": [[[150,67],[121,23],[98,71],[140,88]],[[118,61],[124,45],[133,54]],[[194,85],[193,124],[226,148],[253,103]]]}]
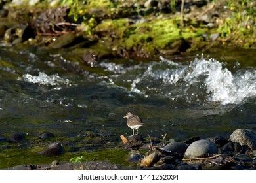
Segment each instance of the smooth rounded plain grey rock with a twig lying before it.
[{"label": "smooth rounded plain grey rock with a twig lying before it", "polygon": [[203,158],[207,156],[213,156],[217,154],[217,146],[206,139],[202,139],[196,142],[193,142],[188,146],[184,154],[184,158]]}]

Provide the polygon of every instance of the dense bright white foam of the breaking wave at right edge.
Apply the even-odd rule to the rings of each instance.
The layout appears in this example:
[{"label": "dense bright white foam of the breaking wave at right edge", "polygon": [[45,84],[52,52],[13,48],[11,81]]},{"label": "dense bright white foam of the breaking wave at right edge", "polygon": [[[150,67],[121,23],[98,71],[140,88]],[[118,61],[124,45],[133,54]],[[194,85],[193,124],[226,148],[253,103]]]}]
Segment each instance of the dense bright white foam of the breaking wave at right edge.
[{"label": "dense bright white foam of the breaking wave at right edge", "polygon": [[223,63],[215,59],[195,59],[190,64],[191,71],[187,73],[184,80],[194,84],[200,76],[206,85],[206,94],[209,101],[219,102],[222,105],[240,104],[246,99],[256,96],[256,73],[255,69],[247,71],[238,70],[231,73]]}]

